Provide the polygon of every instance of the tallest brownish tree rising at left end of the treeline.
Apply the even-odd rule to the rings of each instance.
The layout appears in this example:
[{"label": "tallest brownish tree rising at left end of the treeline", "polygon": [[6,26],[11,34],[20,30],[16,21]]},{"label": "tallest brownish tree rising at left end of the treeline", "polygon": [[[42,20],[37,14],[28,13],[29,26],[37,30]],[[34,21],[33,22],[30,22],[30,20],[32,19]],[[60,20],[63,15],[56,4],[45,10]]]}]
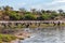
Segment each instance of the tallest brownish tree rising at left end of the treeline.
[{"label": "tallest brownish tree rising at left end of the treeline", "polygon": [[13,11],[13,8],[11,8],[11,6],[9,6],[9,5],[3,6],[3,8],[2,8],[2,14],[3,14],[3,15],[1,16],[2,19],[5,19],[5,20],[8,19],[8,20],[9,20],[9,19],[10,19],[10,16],[9,16],[9,15],[10,15],[10,12],[11,12],[11,11]]}]

